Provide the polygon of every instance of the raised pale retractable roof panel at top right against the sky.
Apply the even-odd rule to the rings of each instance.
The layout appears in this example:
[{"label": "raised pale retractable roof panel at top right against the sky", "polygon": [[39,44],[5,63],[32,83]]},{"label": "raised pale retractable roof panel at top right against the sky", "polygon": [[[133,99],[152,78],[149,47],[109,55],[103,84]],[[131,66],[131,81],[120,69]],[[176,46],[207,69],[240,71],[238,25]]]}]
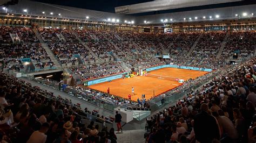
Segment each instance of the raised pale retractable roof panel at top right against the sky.
[{"label": "raised pale retractable roof panel at top right against the sky", "polygon": [[174,9],[184,9],[181,11],[190,11],[196,7],[196,9],[208,9],[211,7],[214,8],[223,8],[226,6],[238,6],[245,4],[256,3],[252,0],[154,0],[153,2],[145,2],[139,4],[118,6],[115,8],[116,13],[122,14],[134,14],[134,13],[144,13],[144,15],[149,15],[152,12],[154,13],[166,13],[171,12],[170,10]]}]

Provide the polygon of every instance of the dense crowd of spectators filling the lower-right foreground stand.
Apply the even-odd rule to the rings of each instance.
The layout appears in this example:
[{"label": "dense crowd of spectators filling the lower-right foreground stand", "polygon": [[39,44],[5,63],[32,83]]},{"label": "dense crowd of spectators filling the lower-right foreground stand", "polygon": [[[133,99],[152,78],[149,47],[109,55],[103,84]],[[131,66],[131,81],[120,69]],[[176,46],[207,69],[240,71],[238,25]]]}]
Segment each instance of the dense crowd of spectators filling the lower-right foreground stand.
[{"label": "dense crowd of spectators filling the lower-right foreground stand", "polygon": [[255,58],[147,119],[147,142],[255,142]]}]

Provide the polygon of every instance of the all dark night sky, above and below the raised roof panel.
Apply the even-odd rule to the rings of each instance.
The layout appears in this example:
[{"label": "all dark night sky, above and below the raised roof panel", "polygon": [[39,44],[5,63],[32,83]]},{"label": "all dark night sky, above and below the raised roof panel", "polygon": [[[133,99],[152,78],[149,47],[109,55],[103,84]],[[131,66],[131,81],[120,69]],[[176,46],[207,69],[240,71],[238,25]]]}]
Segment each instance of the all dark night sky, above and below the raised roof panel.
[{"label": "all dark night sky, above and below the raised roof panel", "polygon": [[[31,0],[31,1],[115,13],[114,8],[117,6],[151,2],[154,0]],[[180,1],[180,0],[177,0],[177,1]],[[201,9],[223,8],[223,7],[247,5],[247,4],[256,4],[256,0],[244,0],[244,1],[240,1],[240,2],[225,3],[225,4],[212,4],[212,5],[205,5],[205,6],[194,6],[194,7],[190,7],[190,8],[179,8],[179,9],[171,9],[171,10],[135,13],[135,14],[131,14],[131,16],[156,15],[156,14],[161,14],[161,13],[172,13],[172,12],[201,10]]]}]

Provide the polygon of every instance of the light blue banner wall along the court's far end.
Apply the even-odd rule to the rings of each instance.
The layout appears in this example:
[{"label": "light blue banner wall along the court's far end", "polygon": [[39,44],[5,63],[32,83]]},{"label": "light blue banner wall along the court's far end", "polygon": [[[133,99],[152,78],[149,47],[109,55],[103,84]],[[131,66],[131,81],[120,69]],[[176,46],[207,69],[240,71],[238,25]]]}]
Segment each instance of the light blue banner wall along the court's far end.
[{"label": "light blue banner wall along the court's far end", "polygon": [[180,68],[180,69],[207,71],[207,72],[212,71],[212,69],[208,69],[208,68],[197,68],[197,67],[187,67],[187,66],[177,66],[177,65],[161,65],[161,66],[147,68],[146,71],[157,70],[157,69],[161,69],[161,68]]}]

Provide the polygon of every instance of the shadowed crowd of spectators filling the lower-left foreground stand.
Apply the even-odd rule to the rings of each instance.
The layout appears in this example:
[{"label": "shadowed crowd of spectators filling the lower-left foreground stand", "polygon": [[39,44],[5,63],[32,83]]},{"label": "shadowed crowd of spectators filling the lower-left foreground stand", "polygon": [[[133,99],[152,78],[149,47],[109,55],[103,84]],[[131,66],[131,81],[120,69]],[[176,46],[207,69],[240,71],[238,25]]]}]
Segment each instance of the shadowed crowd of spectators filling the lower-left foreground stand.
[{"label": "shadowed crowd of spectators filling the lower-left foreground stand", "polygon": [[113,128],[82,124],[84,111],[70,101],[8,74],[0,79],[1,142],[117,142]]}]

